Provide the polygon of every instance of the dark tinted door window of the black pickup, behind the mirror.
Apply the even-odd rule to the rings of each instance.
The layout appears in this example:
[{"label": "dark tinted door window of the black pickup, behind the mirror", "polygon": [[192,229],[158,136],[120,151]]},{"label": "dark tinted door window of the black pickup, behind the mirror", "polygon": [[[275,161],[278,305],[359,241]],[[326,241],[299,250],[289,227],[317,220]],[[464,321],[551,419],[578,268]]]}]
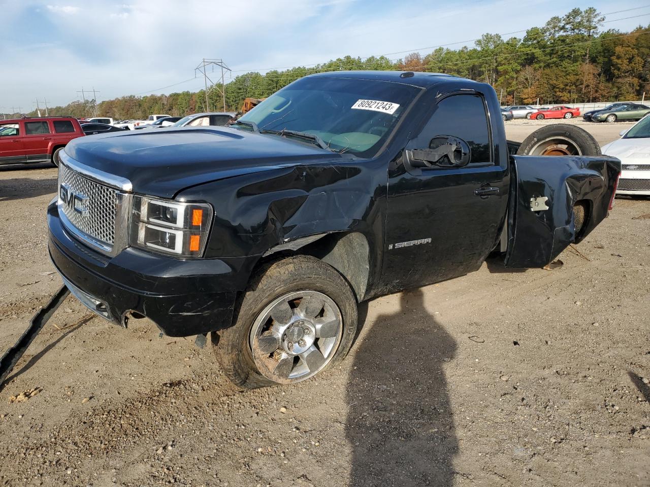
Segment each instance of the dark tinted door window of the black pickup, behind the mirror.
[{"label": "dark tinted door window of the black pickup, behind the mirror", "polygon": [[492,162],[490,131],[481,96],[452,95],[440,101],[417,137],[415,147],[433,149],[435,147],[432,147],[432,144],[439,143],[439,140],[434,139],[445,135],[467,142],[471,150],[470,165]]}]

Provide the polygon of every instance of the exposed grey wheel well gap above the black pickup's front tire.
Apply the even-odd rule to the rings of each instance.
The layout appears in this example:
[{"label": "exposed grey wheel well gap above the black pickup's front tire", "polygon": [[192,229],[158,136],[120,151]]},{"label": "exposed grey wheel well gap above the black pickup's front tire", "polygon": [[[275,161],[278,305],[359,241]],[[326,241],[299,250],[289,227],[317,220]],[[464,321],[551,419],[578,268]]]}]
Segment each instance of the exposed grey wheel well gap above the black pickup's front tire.
[{"label": "exposed grey wheel well gap above the black pickup's front tire", "polygon": [[[305,245],[300,245],[301,240]],[[316,240],[315,236],[309,236],[292,243],[294,245],[291,249],[283,248],[283,245],[275,247],[277,251],[271,249],[257,262],[255,269],[271,260],[280,260],[294,255],[311,255],[339,271],[350,284],[357,301],[363,301],[370,272],[370,248],[363,234],[335,232],[323,234]]]}]

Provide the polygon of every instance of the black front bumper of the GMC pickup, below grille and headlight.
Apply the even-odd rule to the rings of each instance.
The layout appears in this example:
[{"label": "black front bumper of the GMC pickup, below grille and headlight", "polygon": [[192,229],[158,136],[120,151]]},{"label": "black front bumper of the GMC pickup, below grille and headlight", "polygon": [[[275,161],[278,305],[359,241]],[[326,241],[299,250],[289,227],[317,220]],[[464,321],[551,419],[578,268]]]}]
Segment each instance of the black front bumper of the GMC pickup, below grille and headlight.
[{"label": "black front bumper of the GMC pickup, below grille and headlight", "polygon": [[141,314],[168,336],[229,327],[237,293],[259,258],[179,260],[131,247],[107,257],[66,231],[55,201],[47,227],[50,258],[81,303],[122,326],[131,313]]}]

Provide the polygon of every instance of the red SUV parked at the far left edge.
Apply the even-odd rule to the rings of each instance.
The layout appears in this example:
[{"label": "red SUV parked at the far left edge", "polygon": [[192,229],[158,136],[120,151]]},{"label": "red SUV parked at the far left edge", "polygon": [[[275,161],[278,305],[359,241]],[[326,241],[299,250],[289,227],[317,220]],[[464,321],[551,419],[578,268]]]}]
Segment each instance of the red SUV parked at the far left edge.
[{"label": "red SUV parked at the far left edge", "polygon": [[0,165],[52,162],[72,139],[83,136],[79,121],[70,117],[0,120]]}]

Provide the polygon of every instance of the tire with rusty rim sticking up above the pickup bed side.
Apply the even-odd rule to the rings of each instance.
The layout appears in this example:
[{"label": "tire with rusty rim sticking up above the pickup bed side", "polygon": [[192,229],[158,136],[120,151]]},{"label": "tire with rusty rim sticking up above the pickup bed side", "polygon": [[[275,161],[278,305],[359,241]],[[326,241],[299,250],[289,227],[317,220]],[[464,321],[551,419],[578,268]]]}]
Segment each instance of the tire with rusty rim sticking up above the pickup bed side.
[{"label": "tire with rusty rim sticking up above the pickup bed side", "polygon": [[599,156],[601,147],[586,130],[568,123],[554,123],[526,137],[517,155]]}]

